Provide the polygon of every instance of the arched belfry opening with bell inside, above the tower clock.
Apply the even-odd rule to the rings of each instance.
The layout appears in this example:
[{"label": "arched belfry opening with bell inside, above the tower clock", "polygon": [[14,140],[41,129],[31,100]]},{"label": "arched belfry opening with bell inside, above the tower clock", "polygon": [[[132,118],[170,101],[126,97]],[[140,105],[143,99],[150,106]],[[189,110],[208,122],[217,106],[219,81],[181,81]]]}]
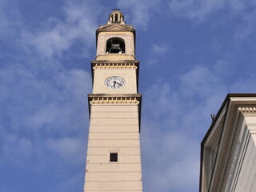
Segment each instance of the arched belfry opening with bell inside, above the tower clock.
[{"label": "arched belfry opening with bell inside, above the tower clock", "polygon": [[106,54],[125,54],[126,44],[122,38],[110,38],[106,41]]}]

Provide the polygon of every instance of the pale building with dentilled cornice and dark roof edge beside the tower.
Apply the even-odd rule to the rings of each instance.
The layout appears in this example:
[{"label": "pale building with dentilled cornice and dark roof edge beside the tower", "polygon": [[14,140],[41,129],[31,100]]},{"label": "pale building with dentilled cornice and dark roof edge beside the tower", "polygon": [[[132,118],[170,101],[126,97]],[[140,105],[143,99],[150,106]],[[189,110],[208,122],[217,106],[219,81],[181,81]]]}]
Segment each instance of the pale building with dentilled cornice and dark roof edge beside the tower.
[{"label": "pale building with dentilled cornice and dark roof edge beside the tower", "polygon": [[228,94],[201,145],[201,192],[256,191],[256,94]]}]

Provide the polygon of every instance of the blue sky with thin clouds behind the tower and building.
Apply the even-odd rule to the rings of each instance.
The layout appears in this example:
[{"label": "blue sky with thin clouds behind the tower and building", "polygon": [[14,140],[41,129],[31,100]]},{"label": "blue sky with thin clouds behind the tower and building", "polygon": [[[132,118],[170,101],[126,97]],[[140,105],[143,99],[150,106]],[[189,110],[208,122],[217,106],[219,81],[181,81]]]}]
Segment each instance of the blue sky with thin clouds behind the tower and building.
[{"label": "blue sky with thin clouds behind the tower and building", "polygon": [[198,191],[228,93],[256,93],[255,0],[0,0],[0,191],[82,191],[95,30],[136,35],[146,192]]}]

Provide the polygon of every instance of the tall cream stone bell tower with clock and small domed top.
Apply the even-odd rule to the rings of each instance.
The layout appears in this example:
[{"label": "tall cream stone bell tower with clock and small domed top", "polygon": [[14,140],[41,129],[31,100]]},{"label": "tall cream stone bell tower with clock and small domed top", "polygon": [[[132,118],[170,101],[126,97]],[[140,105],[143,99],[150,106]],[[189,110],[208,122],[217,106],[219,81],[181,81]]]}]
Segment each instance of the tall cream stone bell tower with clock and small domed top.
[{"label": "tall cream stone bell tower with clock and small domed top", "polygon": [[96,41],[84,191],[142,192],[135,30],[114,9]]}]

